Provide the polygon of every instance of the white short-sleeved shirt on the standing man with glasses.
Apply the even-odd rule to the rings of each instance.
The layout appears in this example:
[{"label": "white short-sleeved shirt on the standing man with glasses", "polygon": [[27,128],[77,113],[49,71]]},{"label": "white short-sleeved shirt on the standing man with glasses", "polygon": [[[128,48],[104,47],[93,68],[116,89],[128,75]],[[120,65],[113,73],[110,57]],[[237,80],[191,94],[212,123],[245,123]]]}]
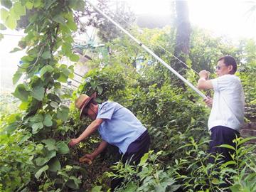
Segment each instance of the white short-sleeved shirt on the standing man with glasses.
[{"label": "white short-sleeved shirt on the standing man with glasses", "polygon": [[208,128],[224,126],[239,131],[245,117],[245,95],[240,79],[235,75],[223,75],[211,82],[214,95]]}]

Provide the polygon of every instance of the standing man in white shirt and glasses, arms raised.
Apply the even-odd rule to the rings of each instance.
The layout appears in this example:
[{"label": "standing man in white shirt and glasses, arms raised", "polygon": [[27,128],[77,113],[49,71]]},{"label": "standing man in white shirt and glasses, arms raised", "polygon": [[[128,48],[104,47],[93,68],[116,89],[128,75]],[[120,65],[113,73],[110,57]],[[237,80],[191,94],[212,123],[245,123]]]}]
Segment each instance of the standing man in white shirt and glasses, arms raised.
[{"label": "standing man in white shirt and glasses, arms raised", "polygon": [[[239,131],[244,121],[245,97],[240,79],[235,76],[237,64],[231,56],[224,56],[218,60],[216,74],[218,78],[208,80],[208,71],[201,70],[199,73],[198,89],[213,89],[213,99],[208,97],[205,102],[212,107],[208,119],[210,130],[210,153],[223,154],[223,161],[233,160],[230,154],[235,151],[220,146],[229,144],[235,147],[233,139],[240,137]],[[210,163],[214,163],[210,158]]]}]

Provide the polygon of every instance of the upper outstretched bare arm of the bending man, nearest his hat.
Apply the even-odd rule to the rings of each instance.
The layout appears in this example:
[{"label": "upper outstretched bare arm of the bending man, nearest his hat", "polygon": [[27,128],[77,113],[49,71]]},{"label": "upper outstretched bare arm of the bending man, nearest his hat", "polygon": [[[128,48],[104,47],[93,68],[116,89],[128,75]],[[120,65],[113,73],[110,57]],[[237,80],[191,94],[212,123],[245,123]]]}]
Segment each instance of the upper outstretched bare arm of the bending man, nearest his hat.
[{"label": "upper outstretched bare arm of the bending man, nearest his hat", "polygon": [[86,137],[89,137],[95,130],[102,124],[103,119],[95,119],[89,126],[85,129],[82,134],[76,138],[76,139],[71,139],[69,142],[69,146],[75,146],[76,144],[79,144],[82,142],[83,139]]}]

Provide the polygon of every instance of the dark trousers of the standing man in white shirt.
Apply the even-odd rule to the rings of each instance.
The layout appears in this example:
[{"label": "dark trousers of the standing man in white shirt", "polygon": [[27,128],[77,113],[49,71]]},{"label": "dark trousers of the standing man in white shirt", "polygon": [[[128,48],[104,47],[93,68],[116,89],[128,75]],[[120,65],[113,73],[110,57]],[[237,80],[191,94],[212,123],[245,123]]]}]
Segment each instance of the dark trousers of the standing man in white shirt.
[{"label": "dark trousers of the standing man in white shirt", "polygon": [[[213,127],[212,129],[210,129],[210,132],[211,132],[210,147],[209,147],[210,154],[213,154],[214,156],[216,156],[216,154],[222,154],[223,157],[221,159],[219,159],[218,161],[215,161],[215,158],[210,156],[209,163],[214,164],[214,163],[218,163],[221,161],[221,163],[223,164],[228,161],[233,161],[233,159],[230,155],[230,154],[235,153],[235,151],[233,149],[217,147],[217,146],[220,146],[221,144],[228,144],[228,145],[236,148],[233,140],[240,137],[240,133],[235,131],[234,129],[230,129],[228,127],[223,127],[223,126]],[[232,166],[232,165],[230,165],[230,166]],[[218,176],[216,176],[216,177],[218,177]],[[227,178],[227,177],[225,177],[225,178]],[[221,188],[227,188],[228,186],[230,186],[229,183],[220,184]]]}]

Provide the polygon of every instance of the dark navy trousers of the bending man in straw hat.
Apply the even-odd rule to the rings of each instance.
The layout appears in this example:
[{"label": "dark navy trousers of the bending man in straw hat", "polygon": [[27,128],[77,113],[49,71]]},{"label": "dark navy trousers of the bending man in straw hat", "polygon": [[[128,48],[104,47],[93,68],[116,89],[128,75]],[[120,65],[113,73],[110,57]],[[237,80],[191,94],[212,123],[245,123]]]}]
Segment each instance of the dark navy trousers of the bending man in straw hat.
[{"label": "dark navy trousers of the bending man in straw hat", "polygon": [[[122,156],[122,163],[125,164],[126,161],[131,165],[138,165],[140,159],[144,154],[149,151],[150,138],[147,130],[132,144],[129,144],[126,153]],[[114,188],[121,186],[123,178],[113,178],[111,181],[111,191],[114,191]]]}]

